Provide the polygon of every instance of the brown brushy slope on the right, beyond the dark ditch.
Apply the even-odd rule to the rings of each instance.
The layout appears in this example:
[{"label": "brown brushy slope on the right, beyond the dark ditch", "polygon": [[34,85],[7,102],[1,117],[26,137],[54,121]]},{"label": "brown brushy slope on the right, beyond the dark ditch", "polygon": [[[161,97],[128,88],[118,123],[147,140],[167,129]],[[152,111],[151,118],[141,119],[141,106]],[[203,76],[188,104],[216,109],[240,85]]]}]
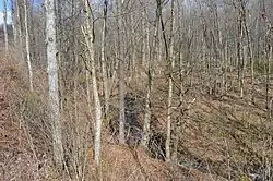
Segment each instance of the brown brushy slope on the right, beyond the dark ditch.
[{"label": "brown brushy slope on the right, beyond the dark ditch", "polygon": [[[152,126],[156,124],[155,130],[165,133],[166,105],[162,102],[167,102],[167,89],[163,87],[168,86],[163,79],[158,76],[154,81],[157,94],[153,94],[155,119]],[[185,84],[188,92],[183,106],[190,105],[189,109],[181,116],[179,109],[174,108],[174,121],[182,120],[178,133],[179,165],[228,180],[272,180],[273,126],[265,108],[265,74],[256,72],[253,87],[250,76],[245,77],[244,97],[239,96],[238,79],[234,73],[228,74],[226,93],[218,87],[215,94],[210,94],[209,86],[213,82],[204,84],[205,81],[192,75],[191,84]],[[141,93],[144,88],[135,85],[132,92]],[[269,96],[272,90],[270,84]],[[175,88],[174,95],[177,96],[174,105],[179,105],[179,89]]]}]

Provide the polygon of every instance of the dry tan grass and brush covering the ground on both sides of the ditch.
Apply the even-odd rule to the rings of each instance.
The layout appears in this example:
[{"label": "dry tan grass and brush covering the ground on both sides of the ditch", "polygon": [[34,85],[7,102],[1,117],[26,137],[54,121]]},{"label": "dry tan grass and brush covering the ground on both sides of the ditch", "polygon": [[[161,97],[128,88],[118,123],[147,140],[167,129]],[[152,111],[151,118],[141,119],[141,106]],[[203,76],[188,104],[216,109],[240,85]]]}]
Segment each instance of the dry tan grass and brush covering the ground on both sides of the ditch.
[{"label": "dry tan grass and brush covering the ground on both sides of the ditch", "polygon": [[[120,146],[112,141],[109,120],[117,119],[117,94],[111,97],[112,112],[104,120],[102,165],[93,165],[93,106],[86,101],[82,75],[66,80],[61,92],[61,113],[66,169],[57,172],[51,162],[51,132],[47,118],[46,69],[34,68],[35,92],[28,92],[24,64],[1,56],[1,173],[4,180],[242,180],[253,177],[270,178],[272,171],[272,126],[264,109],[264,87],[257,86],[256,105],[249,97],[239,98],[230,88],[223,96],[209,95],[200,80],[192,76],[182,107],[193,98],[183,116],[174,108],[173,119],[182,117],[179,132],[178,165],[151,157],[151,153],[132,146]],[[74,86],[74,80],[79,84]],[[144,80],[142,83],[138,80]],[[143,122],[145,74],[131,80],[128,93],[136,97],[138,121]],[[177,77],[175,77],[177,79]],[[177,81],[178,82],[178,81]],[[203,83],[207,85],[207,83]],[[237,86],[233,83],[233,86]],[[69,87],[66,87],[69,86]],[[71,88],[72,87],[72,88]],[[117,93],[117,87],[115,87]],[[272,90],[272,87],[271,87]],[[167,82],[164,74],[154,80],[152,97],[154,133],[166,132]],[[178,105],[179,89],[175,88],[174,105]],[[117,121],[117,120],[116,120]],[[4,137],[5,133],[8,136]],[[164,135],[164,134],[163,134]],[[164,136],[163,136],[164,138]],[[175,138],[175,137],[174,137]],[[17,145],[17,146],[16,146]],[[10,170],[8,174],[8,170]]]}]

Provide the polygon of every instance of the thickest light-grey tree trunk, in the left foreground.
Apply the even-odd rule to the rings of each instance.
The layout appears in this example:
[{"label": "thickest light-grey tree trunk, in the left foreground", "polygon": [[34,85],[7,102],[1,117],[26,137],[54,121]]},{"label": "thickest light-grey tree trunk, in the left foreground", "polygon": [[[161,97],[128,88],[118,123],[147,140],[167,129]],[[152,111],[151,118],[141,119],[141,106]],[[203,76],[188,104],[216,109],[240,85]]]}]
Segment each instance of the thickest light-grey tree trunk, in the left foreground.
[{"label": "thickest light-grey tree trunk, in the left foreground", "polygon": [[63,164],[63,147],[58,93],[58,63],[56,44],[55,0],[46,0],[46,36],[49,85],[49,118],[52,122],[54,156],[59,168]]}]

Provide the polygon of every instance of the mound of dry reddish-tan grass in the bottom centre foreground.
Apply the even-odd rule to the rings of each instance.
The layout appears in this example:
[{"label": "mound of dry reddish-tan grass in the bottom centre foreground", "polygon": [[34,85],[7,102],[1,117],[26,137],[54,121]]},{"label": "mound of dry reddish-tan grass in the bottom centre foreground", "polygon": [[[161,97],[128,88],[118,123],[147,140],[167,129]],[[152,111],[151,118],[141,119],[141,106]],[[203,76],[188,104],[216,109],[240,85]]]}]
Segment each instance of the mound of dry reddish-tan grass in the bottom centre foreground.
[{"label": "mound of dry reddish-tan grass in the bottom centre foreground", "polygon": [[[91,161],[91,169],[94,168]],[[103,146],[102,165],[93,170],[95,180],[187,180],[212,181],[225,180],[194,169],[174,167],[171,164],[151,158],[142,148],[107,144]]]}]

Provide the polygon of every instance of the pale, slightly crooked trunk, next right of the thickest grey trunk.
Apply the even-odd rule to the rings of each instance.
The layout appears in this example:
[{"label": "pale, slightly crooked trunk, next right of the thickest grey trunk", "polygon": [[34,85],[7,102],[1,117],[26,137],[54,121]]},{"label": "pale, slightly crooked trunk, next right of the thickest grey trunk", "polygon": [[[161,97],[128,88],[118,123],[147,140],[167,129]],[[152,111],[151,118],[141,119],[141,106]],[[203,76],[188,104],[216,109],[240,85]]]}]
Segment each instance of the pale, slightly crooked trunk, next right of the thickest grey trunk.
[{"label": "pale, slightly crooked trunk, next right of the thickest grey trunk", "polygon": [[88,0],[84,0],[85,4],[85,26],[83,27],[83,33],[85,37],[85,41],[88,48],[88,60],[87,60],[87,70],[92,72],[92,85],[93,85],[93,96],[95,101],[95,165],[98,166],[100,162],[100,140],[102,140],[102,106],[98,96],[98,88],[97,88],[97,80],[96,80],[96,67],[95,67],[95,34],[94,34],[94,24],[91,23],[94,21],[92,14],[92,7]]}]

